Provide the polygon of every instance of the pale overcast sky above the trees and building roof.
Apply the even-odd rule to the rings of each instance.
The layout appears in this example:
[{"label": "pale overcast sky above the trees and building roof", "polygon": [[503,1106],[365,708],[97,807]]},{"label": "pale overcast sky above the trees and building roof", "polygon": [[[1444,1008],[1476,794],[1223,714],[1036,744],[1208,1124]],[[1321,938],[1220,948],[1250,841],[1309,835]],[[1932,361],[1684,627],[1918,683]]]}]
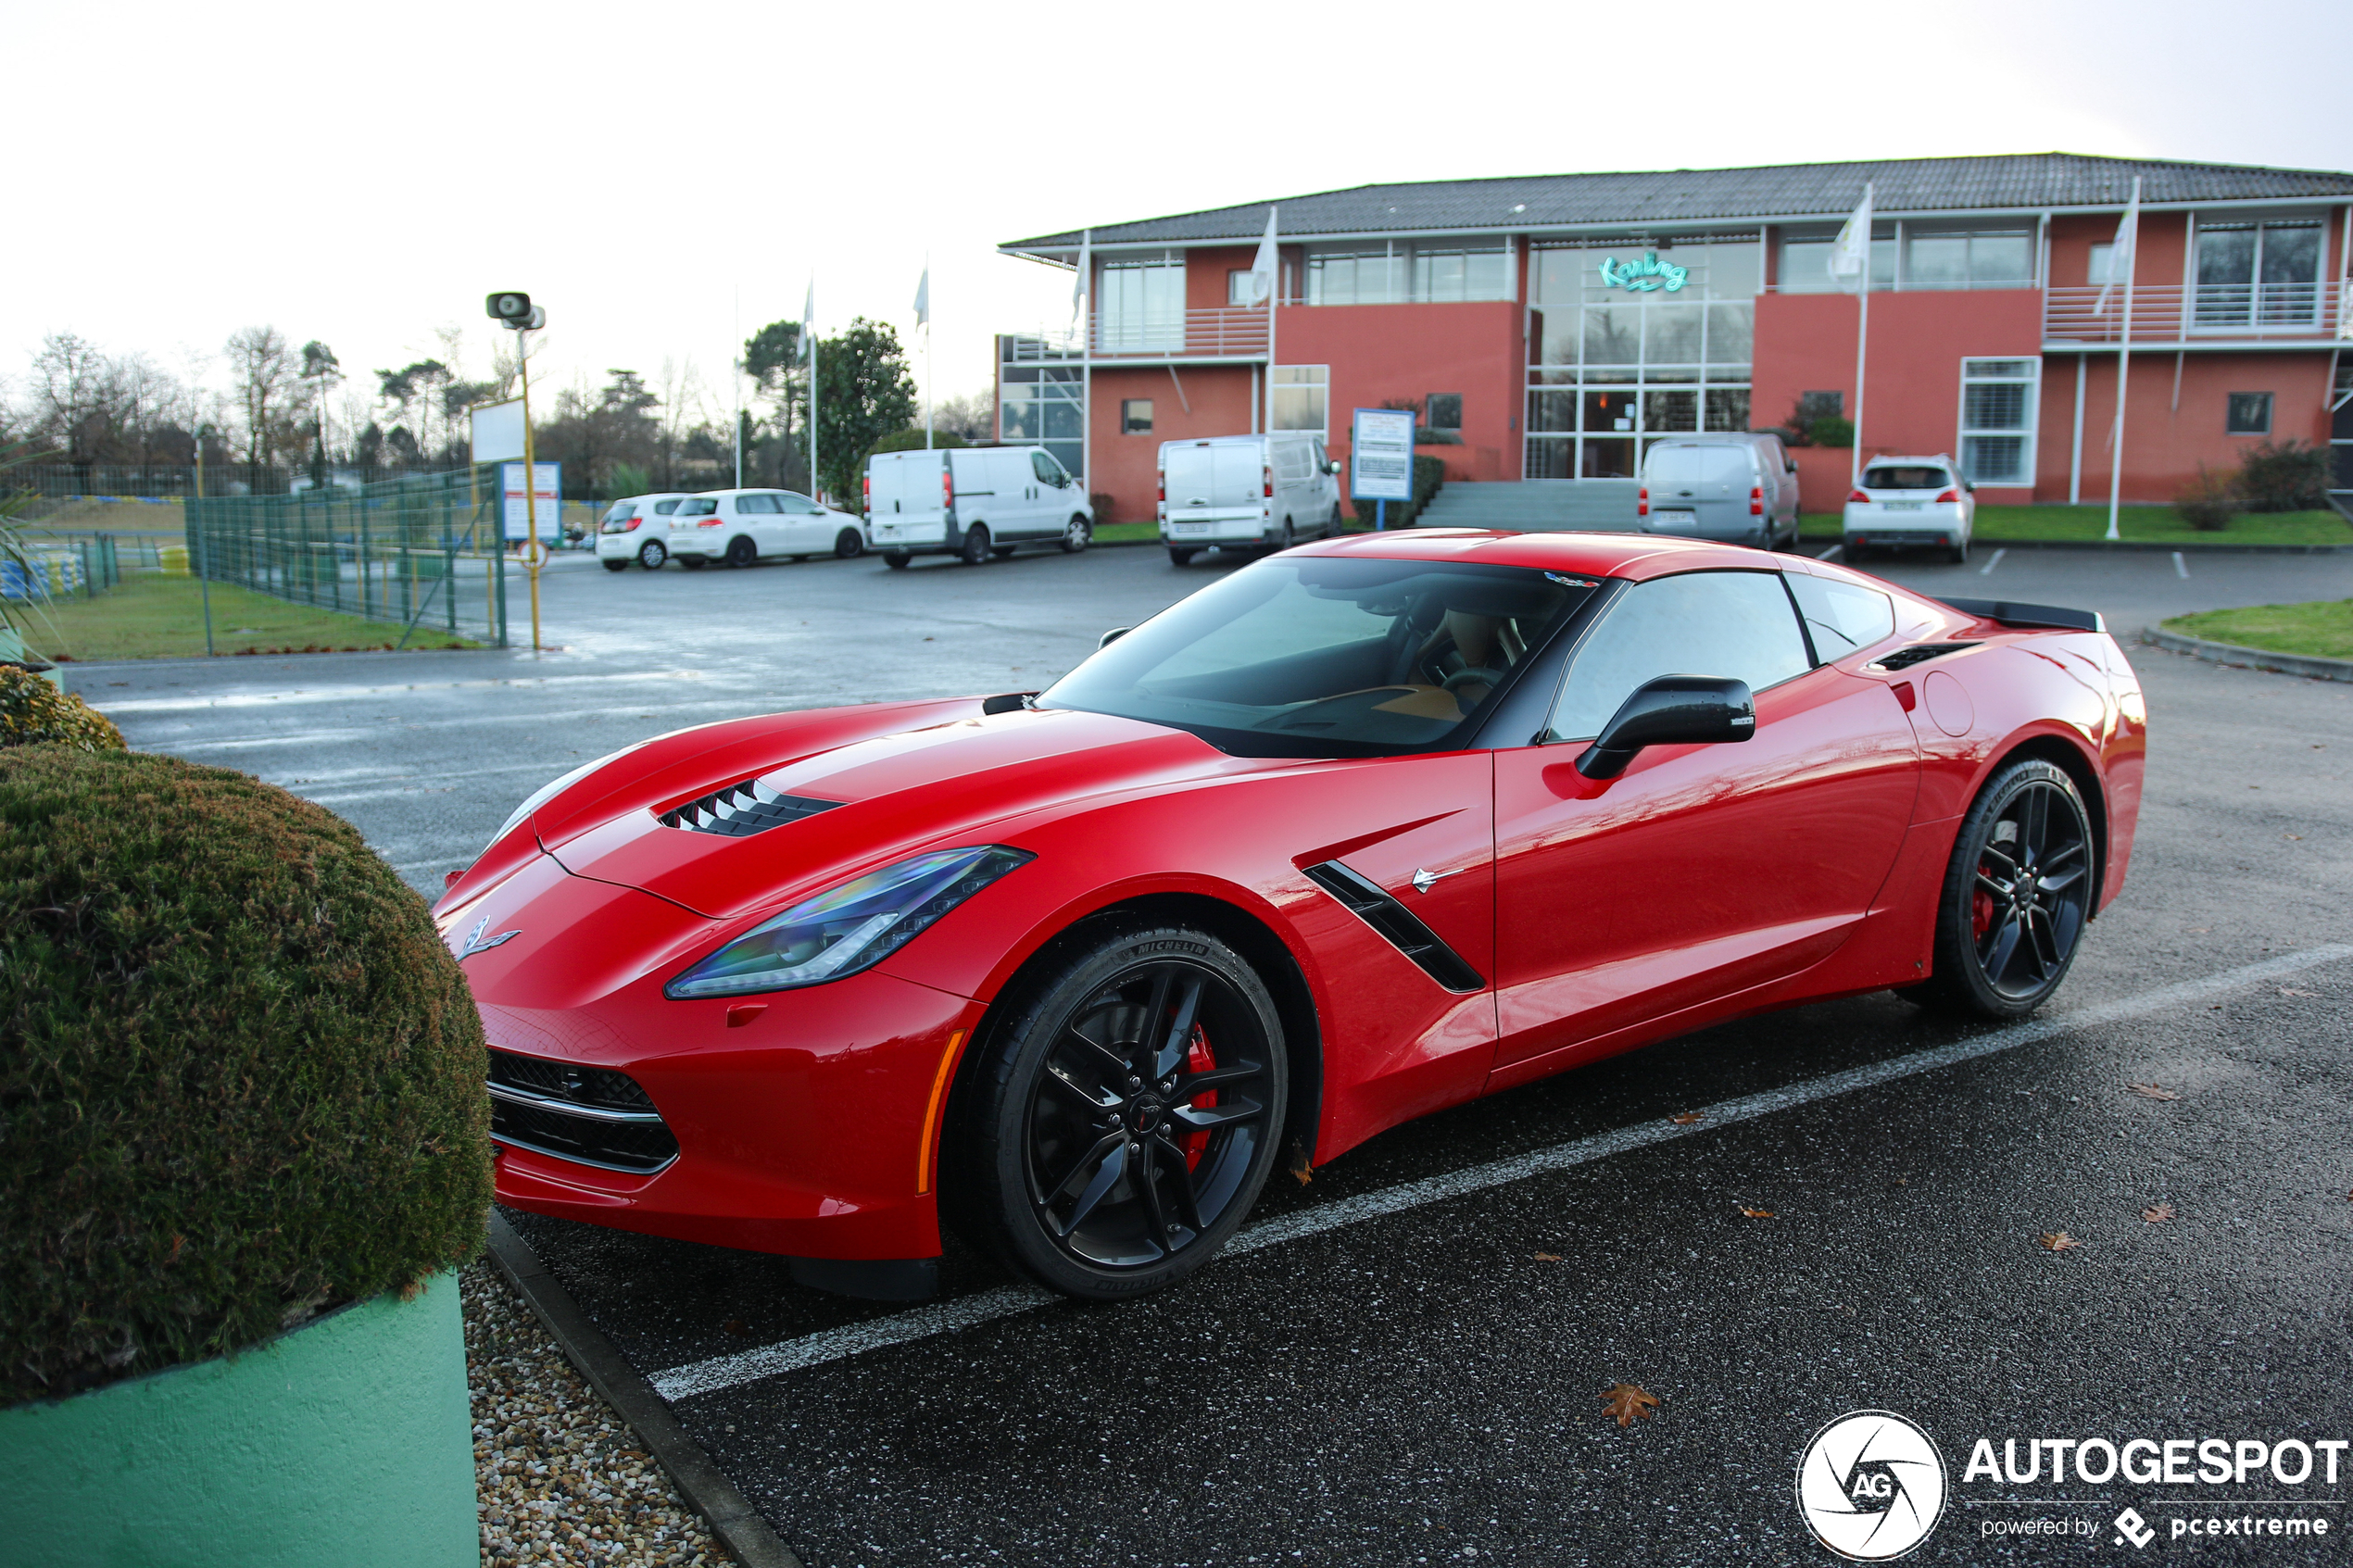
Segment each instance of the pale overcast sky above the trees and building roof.
[{"label": "pale overcast sky above the trees and building roof", "polygon": [[[2233,21],[2238,16],[2238,21]],[[1372,181],[2073,150],[2353,169],[2344,0],[1499,5],[45,5],[9,24],[0,378],[47,331],[221,381],[273,322],[346,371],[529,289],[534,386],[852,315],[941,395],[1066,324],[1033,233]],[[911,357],[922,374],[920,341]]]}]

